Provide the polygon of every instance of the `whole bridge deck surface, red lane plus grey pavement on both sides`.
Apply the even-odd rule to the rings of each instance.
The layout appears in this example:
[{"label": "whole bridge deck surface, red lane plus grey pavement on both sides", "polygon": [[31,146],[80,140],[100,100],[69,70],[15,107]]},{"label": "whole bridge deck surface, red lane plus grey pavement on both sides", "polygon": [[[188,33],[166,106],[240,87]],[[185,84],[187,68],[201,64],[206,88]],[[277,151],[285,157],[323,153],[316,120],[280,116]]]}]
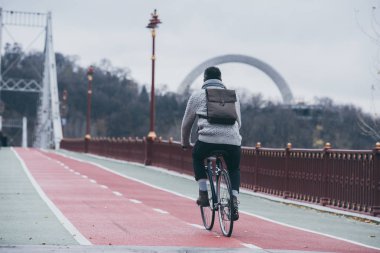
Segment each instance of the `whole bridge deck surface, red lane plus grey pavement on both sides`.
[{"label": "whole bridge deck surface, red lane plus grey pavement on both sides", "polygon": [[380,251],[376,220],[249,192],[240,194],[241,218],[225,238],[217,223],[212,232],[202,228],[196,194],[192,178],[157,168],[3,148],[0,252]]}]

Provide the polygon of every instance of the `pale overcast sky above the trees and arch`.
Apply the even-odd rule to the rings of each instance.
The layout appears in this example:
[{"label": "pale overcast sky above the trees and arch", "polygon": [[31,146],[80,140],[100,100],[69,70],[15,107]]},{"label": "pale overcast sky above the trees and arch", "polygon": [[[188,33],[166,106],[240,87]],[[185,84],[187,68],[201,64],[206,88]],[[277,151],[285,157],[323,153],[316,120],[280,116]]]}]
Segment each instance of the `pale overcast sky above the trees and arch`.
[{"label": "pale overcast sky above the trees and arch", "polygon": [[[51,11],[57,52],[78,56],[83,67],[109,59],[148,89],[152,41],[145,27],[157,8],[162,21],[156,37],[159,88],[176,91],[203,61],[243,54],[275,68],[297,101],[330,97],[380,112],[380,45],[361,29],[372,32],[373,6],[380,23],[379,0],[0,0],[0,6]],[[3,45],[15,39],[24,49],[38,49],[38,39],[30,45],[35,35],[17,29],[3,31]],[[262,71],[241,63],[220,68],[228,87],[281,100]],[[192,87],[200,85],[199,78]]]}]

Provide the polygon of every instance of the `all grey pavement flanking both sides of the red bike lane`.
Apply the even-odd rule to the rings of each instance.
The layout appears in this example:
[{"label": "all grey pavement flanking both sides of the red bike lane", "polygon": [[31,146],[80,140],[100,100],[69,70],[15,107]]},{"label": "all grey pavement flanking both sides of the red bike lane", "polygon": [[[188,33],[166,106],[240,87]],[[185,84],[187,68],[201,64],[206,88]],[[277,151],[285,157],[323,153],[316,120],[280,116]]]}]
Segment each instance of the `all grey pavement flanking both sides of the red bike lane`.
[{"label": "all grey pavement flanking both sides of the red bike lane", "polygon": [[[49,151],[55,152],[55,151]],[[178,192],[194,199],[197,184],[190,176],[141,164],[59,150],[59,154],[93,162],[127,177]],[[333,209],[318,210],[296,202],[242,191],[240,209],[288,226],[380,248],[380,222],[347,216]],[[368,218],[368,219],[365,219]],[[237,223],[238,226],[238,223]],[[0,150],[0,253],[2,252],[300,252],[253,249],[197,249],[181,247],[81,246],[40,198],[9,148]]]}]

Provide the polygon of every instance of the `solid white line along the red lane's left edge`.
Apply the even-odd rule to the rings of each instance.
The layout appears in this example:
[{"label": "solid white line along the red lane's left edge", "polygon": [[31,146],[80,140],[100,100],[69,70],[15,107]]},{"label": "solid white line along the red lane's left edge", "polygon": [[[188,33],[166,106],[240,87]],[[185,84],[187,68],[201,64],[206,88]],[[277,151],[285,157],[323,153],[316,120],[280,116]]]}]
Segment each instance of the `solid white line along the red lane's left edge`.
[{"label": "solid white line along the red lane's left edge", "polygon": [[39,184],[36,182],[32,174],[29,172],[28,168],[26,167],[26,164],[24,163],[24,160],[21,159],[21,157],[18,155],[18,153],[11,148],[17,159],[19,160],[21,167],[23,168],[25,174],[29,178],[30,182],[40,195],[41,199],[45,201],[47,206],[50,208],[50,210],[54,213],[54,215],[57,217],[57,219],[60,221],[60,223],[63,225],[64,228],[69,231],[69,233],[74,237],[74,239],[80,244],[80,245],[92,245],[92,243],[87,240],[86,237],[84,237],[76,227],[63,215],[63,213],[54,205],[54,203],[48,198],[48,196],[45,194],[45,192],[41,189]]}]

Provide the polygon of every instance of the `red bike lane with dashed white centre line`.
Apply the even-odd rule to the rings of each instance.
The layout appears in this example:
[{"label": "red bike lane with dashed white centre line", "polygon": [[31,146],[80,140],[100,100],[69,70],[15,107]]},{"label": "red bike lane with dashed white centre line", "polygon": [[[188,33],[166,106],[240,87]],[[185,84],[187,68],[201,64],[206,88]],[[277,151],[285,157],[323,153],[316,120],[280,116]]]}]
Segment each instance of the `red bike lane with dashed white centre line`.
[{"label": "red bike lane with dashed white centre line", "polygon": [[91,163],[15,150],[48,198],[92,244],[379,252],[243,213],[226,238],[217,220],[213,231],[202,229],[194,200]]}]

